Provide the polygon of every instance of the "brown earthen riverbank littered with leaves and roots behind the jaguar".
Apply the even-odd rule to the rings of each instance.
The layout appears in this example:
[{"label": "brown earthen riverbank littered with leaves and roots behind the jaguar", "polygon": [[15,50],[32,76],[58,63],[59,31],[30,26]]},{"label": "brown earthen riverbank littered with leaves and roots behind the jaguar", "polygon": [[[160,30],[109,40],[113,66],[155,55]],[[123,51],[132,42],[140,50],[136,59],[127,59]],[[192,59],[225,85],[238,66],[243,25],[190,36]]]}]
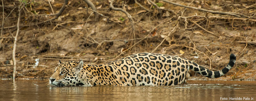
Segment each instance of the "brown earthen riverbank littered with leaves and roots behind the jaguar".
[{"label": "brown earthen riverbank littered with leaves and roots behind the jaguar", "polygon": [[[231,72],[207,80],[256,80],[255,0],[169,0],[241,16],[185,9],[161,0],[155,0],[158,7],[137,0],[145,9],[134,0],[115,0],[113,7],[127,11],[134,24],[125,13],[110,9],[111,0],[90,1],[100,14],[98,19],[83,0],[69,0],[55,20],[49,20],[56,17],[50,14],[52,10],[58,13],[64,0],[4,0],[0,6],[0,78],[12,78],[18,6],[26,3],[15,54],[18,79],[48,79],[59,60],[102,64],[154,50],[213,70],[224,68],[234,53],[237,61]],[[39,59],[36,67],[35,59]],[[206,79],[194,72],[190,75],[191,79]]]}]

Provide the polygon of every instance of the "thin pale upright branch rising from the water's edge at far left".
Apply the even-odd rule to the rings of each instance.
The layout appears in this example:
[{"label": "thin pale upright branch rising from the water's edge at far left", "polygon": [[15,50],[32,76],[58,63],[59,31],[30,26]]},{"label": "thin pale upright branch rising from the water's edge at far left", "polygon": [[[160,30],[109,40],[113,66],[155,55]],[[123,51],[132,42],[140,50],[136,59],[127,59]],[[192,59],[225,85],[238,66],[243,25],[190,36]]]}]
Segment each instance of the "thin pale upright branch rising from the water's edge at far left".
[{"label": "thin pale upright branch rising from the water's edge at far left", "polygon": [[13,51],[12,51],[12,59],[13,59],[13,74],[12,74],[12,78],[15,79],[15,75],[16,75],[16,68],[17,68],[17,63],[16,63],[16,58],[15,58],[15,51],[16,51],[16,42],[17,42],[17,38],[19,35],[19,31],[20,31],[20,17],[21,17],[21,9],[25,6],[23,4],[23,6],[21,7],[22,3],[19,5],[19,15],[18,15],[18,21],[17,21],[17,32],[16,32],[16,36],[14,39],[14,44],[13,44]]}]

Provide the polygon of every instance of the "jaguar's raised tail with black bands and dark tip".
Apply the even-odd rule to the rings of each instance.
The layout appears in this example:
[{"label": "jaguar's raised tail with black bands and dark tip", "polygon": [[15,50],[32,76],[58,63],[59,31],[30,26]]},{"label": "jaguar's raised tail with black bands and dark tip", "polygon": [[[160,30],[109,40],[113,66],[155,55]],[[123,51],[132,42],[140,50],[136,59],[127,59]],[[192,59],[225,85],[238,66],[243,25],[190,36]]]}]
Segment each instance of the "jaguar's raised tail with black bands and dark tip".
[{"label": "jaguar's raised tail with black bands and dark tip", "polygon": [[236,61],[236,56],[235,54],[230,54],[230,58],[229,58],[229,64],[223,68],[222,70],[219,71],[211,71],[207,68],[204,68],[203,66],[200,66],[194,62],[192,62],[189,65],[189,69],[201,74],[203,76],[206,76],[208,78],[218,78],[223,76],[224,74],[226,74],[227,72],[229,72],[229,70],[235,65],[235,61]]}]

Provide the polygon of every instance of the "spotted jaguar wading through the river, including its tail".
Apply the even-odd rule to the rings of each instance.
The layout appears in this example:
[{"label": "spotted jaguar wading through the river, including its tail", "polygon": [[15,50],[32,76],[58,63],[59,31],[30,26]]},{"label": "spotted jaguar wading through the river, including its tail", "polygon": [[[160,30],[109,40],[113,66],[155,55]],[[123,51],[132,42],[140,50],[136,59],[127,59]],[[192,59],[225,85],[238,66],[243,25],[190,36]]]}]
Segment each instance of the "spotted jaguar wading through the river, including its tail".
[{"label": "spotted jaguar wading through the river, including its tail", "polygon": [[84,64],[83,61],[59,61],[50,77],[51,86],[173,86],[186,82],[192,70],[208,78],[226,74],[235,64],[229,63],[219,71],[211,71],[186,58],[159,53],[138,53],[101,65]]}]

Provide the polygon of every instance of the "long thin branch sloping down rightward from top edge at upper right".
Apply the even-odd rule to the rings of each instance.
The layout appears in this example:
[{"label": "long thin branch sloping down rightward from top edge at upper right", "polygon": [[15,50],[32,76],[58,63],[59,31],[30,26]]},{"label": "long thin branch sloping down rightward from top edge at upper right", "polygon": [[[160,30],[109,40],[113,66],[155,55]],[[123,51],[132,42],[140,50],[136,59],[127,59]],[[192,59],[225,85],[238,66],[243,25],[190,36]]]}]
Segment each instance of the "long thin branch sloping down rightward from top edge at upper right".
[{"label": "long thin branch sloping down rightward from top edge at upper right", "polygon": [[210,12],[212,14],[233,15],[233,16],[238,16],[238,17],[245,16],[245,17],[248,18],[248,16],[246,16],[246,15],[241,15],[241,14],[237,14],[237,13],[234,13],[234,12],[222,12],[222,11],[214,11],[214,10],[201,9],[201,8],[196,8],[196,7],[192,7],[192,6],[186,6],[186,5],[174,3],[174,2],[171,2],[171,1],[168,1],[168,0],[160,0],[160,1],[163,1],[163,2],[166,2],[166,3],[170,3],[170,4],[173,4],[173,5],[177,5],[177,6],[181,6],[181,7],[190,8],[190,9],[196,9],[196,10],[200,10],[200,11]]}]

